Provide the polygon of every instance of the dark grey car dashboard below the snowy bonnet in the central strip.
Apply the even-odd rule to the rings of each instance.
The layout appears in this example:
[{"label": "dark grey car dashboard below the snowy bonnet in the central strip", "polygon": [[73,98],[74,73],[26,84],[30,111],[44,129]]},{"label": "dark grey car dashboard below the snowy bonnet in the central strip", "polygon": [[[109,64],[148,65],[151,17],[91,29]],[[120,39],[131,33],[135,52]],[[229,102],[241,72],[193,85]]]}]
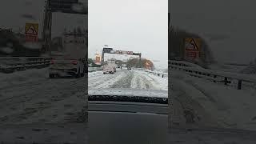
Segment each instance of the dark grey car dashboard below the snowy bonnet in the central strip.
[{"label": "dark grey car dashboard below the snowy bonnet in the central strip", "polygon": [[[153,98],[154,99],[154,98]],[[166,143],[166,102],[104,101],[89,96],[89,142],[93,144]],[[158,100],[161,101],[161,100]]]}]

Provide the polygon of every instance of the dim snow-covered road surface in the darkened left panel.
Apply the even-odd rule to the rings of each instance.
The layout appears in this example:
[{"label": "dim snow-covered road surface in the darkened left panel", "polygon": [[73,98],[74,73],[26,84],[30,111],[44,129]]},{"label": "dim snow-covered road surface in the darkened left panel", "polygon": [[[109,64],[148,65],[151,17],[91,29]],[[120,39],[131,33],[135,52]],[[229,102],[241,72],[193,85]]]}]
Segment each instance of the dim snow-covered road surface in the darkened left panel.
[{"label": "dim snow-covered road surface in the darkened left panel", "polygon": [[47,78],[47,68],[0,74],[0,123],[85,122],[85,78]]}]

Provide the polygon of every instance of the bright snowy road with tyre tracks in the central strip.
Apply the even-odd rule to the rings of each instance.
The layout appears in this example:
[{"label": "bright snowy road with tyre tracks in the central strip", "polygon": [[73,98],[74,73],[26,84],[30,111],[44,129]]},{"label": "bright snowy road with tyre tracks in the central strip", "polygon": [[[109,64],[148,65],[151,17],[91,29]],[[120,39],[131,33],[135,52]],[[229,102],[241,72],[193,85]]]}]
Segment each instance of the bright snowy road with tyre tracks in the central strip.
[{"label": "bright snowy road with tyre tracks in the central strip", "polygon": [[168,90],[168,78],[135,69],[118,69],[115,74],[102,74],[102,71],[97,71],[89,73],[88,78],[89,90],[106,88]]}]

